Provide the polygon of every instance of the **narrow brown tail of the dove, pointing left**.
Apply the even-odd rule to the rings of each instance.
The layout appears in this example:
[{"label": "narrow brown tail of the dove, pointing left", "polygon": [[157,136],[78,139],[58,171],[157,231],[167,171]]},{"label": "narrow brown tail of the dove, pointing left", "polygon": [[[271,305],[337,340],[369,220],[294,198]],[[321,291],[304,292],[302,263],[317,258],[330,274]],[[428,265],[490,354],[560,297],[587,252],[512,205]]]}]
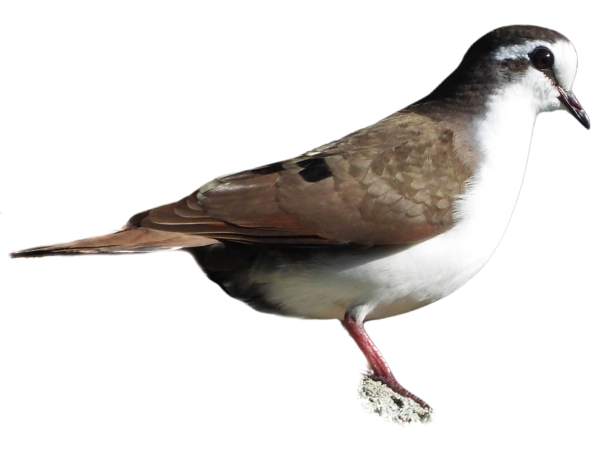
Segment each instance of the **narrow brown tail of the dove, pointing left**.
[{"label": "narrow brown tail of the dove, pointing left", "polygon": [[15,251],[13,258],[52,256],[56,254],[120,253],[128,251],[171,250],[214,244],[215,239],[197,235],[173,233],[150,228],[124,227],[109,235],[79,239],[64,244],[44,245]]}]

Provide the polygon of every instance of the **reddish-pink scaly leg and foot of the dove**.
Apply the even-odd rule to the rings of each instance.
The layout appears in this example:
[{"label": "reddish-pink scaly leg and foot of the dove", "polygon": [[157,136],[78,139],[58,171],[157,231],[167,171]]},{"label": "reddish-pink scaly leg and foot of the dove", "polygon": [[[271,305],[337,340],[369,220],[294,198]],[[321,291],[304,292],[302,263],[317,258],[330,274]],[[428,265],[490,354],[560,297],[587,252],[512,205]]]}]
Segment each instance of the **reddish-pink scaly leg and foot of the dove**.
[{"label": "reddish-pink scaly leg and foot of the dove", "polygon": [[359,346],[359,349],[361,349],[365,355],[365,358],[367,358],[367,362],[370,364],[371,370],[373,370],[373,374],[370,376],[371,379],[388,385],[389,388],[391,388],[394,392],[397,392],[397,394],[403,395],[403,397],[409,397],[412,400],[415,400],[415,402],[424,409],[431,409],[429,404],[421,400],[421,398],[417,397],[416,395],[413,395],[411,392],[407,391],[407,389],[403,388],[403,386],[398,383],[397,379],[395,379],[392,371],[388,367],[388,364],[386,364],[386,361],[384,361],[384,358],[382,358],[380,350],[377,349],[376,344],[374,344],[371,338],[367,335],[367,332],[363,327],[362,320],[357,320],[347,311],[347,313],[344,314],[342,325],[355,340]]}]

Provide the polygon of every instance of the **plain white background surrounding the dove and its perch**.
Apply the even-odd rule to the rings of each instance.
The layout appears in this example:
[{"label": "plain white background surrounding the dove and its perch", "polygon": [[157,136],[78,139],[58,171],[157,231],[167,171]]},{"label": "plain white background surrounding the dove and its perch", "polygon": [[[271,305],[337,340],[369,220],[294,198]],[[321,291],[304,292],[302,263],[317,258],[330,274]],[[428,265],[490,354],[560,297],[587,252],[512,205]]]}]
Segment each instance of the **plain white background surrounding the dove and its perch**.
[{"label": "plain white background surrounding the dove and its perch", "polygon": [[335,321],[257,313],[185,253],[0,257],[0,448],[599,445],[599,37],[586,2],[5,2],[0,254],[118,229],[432,90],[480,35],[563,32],[593,129],[539,117],[504,240],[471,282],[368,323],[436,409],[355,399]]}]

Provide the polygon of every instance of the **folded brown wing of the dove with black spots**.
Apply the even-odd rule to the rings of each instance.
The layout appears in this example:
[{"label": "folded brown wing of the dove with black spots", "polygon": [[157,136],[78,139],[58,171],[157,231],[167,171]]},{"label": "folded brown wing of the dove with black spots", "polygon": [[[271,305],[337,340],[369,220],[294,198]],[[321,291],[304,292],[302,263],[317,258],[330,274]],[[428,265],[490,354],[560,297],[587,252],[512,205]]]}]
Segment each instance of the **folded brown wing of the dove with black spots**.
[{"label": "folded brown wing of the dove with black spots", "polygon": [[405,244],[453,226],[471,148],[398,112],[298,158],[217,178],[132,218],[151,229],[273,244]]}]

